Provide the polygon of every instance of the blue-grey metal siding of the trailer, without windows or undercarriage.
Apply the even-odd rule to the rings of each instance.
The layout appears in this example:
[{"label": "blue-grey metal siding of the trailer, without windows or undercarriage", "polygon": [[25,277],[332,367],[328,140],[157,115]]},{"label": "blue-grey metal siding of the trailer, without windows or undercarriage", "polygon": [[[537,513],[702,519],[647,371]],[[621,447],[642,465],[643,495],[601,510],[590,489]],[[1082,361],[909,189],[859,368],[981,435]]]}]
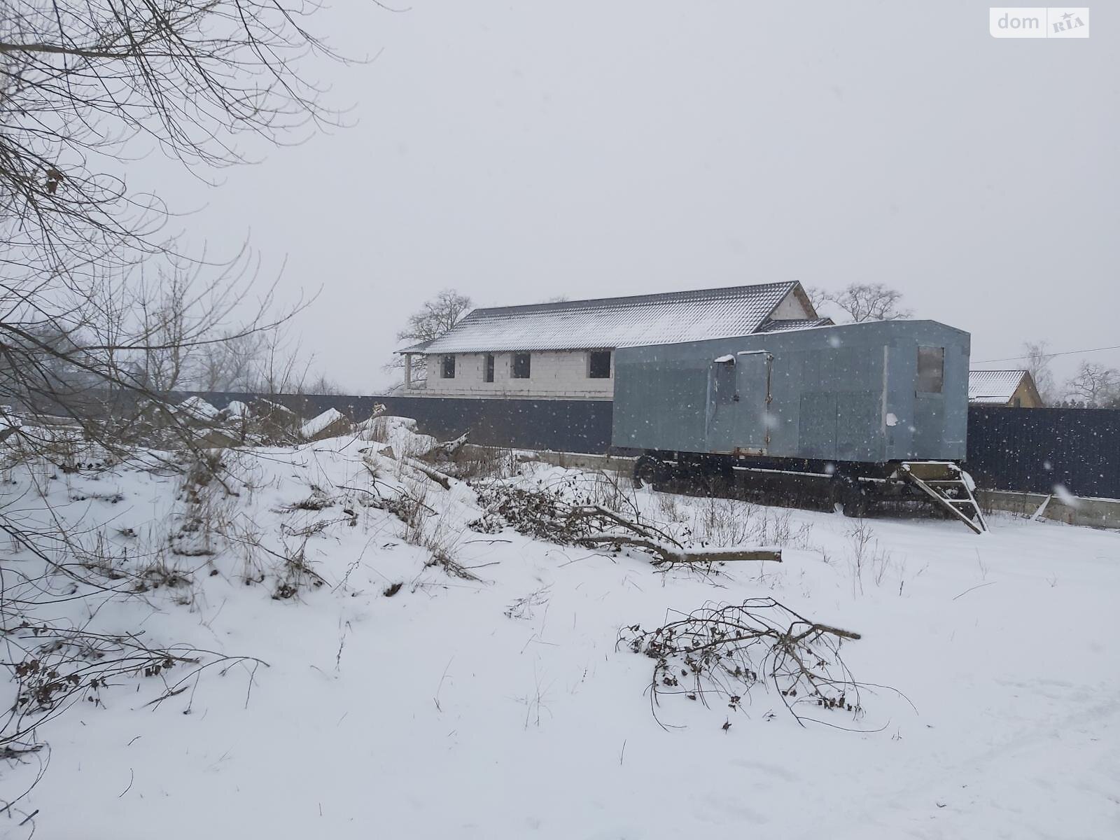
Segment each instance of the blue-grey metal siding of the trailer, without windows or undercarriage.
[{"label": "blue-grey metal siding of the trailer, without windows or undercarriage", "polygon": [[[937,394],[916,394],[918,346],[945,348]],[[771,396],[757,365],[773,356]],[[739,354],[752,354],[743,356]],[[715,404],[717,358],[732,355],[739,400]],[[888,321],[623,348],[615,356],[615,446],[777,458],[886,461],[964,457],[969,336]],[[762,393],[759,391],[762,390]],[[728,417],[728,413],[735,418]],[[888,420],[888,416],[894,418]]]}]

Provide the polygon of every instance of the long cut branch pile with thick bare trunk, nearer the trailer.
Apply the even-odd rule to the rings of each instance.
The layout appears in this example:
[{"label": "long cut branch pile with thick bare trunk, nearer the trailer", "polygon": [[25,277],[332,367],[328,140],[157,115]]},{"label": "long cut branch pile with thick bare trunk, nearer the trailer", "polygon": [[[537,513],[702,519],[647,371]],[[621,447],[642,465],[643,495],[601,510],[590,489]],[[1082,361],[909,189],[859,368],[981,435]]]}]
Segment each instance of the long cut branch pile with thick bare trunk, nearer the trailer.
[{"label": "long cut branch pile with thick bare trunk, nearer the trailer", "polygon": [[486,513],[469,525],[487,533],[493,531],[497,516],[526,536],[561,545],[609,547],[616,551],[636,548],[651,554],[655,564],[782,560],[778,549],[685,545],[638,514],[623,515],[601,505],[572,502],[558,488],[494,483],[476,486],[475,491]]}]

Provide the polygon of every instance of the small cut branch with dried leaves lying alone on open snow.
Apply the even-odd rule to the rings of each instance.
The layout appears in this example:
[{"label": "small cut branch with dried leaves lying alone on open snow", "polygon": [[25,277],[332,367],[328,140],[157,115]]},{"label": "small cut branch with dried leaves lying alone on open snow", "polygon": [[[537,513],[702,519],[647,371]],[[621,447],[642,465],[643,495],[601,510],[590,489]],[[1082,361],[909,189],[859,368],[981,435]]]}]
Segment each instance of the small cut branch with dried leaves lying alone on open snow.
[{"label": "small cut branch with dried leaves lying alone on open snow", "polygon": [[[732,710],[758,684],[773,687],[804,725],[814,712],[837,710],[858,718],[860,684],[840,659],[858,633],[812,622],[773,598],[711,605],[652,631],[625,627],[619,645],[654,660],[651,704],[683,694],[706,706],[709,698]],[[659,721],[660,722],[660,721]]]}]

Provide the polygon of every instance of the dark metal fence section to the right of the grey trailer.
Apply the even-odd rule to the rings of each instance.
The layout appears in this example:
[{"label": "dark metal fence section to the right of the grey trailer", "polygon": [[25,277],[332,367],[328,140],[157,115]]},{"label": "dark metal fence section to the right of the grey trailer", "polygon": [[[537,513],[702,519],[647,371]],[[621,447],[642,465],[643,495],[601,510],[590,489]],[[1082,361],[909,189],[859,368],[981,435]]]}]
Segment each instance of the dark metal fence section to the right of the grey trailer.
[{"label": "dark metal fence section to the right of the grey trailer", "polygon": [[969,409],[968,468],[989,489],[1120,498],[1120,410]]}]

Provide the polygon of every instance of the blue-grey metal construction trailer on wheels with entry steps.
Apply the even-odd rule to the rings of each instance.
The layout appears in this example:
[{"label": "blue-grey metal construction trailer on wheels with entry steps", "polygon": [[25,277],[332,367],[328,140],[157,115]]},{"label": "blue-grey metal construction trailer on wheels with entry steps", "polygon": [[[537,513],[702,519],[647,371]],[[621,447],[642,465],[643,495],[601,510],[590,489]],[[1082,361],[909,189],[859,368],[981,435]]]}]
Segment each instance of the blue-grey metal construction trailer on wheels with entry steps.
[{"label": "blue-grey metal construction trailer on wheels with entry steps", "polygon": [[[862,513],[932,497],[979,520],[965,456],[969,334],[930,320],[620,347],[612,442],[637,477],[682,472],[824,487]],[[963,512],[962,512],[963,508]]]}]

